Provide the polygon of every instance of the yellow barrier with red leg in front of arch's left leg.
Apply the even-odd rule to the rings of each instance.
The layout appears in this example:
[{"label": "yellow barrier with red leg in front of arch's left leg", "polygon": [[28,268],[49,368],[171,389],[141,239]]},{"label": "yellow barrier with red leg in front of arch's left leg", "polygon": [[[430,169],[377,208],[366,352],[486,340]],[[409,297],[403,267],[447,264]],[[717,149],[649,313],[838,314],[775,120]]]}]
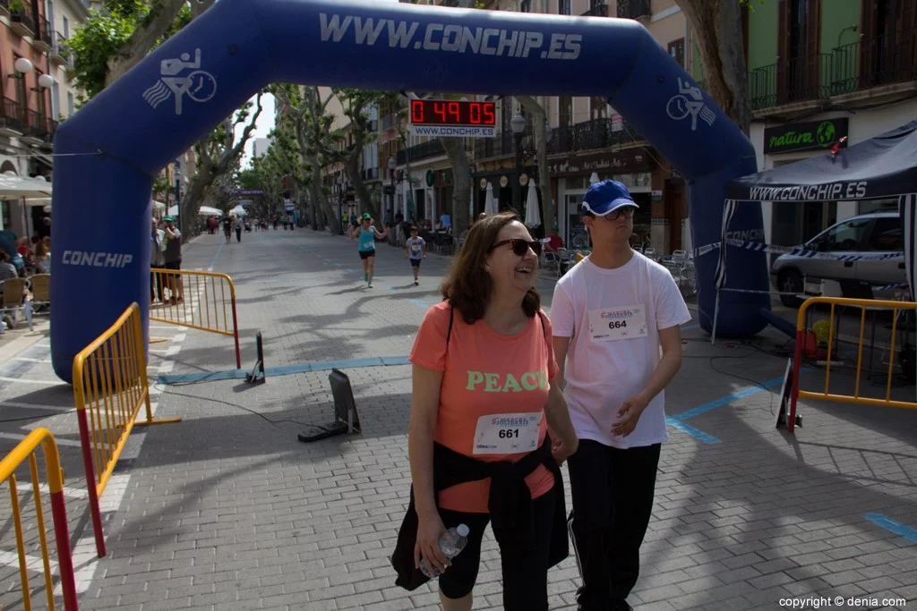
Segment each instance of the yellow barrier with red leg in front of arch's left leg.
[{"label": "yellow barrier with red leg in front of arch's left leg", "polygon": [[[132,303],[115,324],[73,359],[73,397],[99,556],[105,556],[99,496],[105,491],[134,424],[182,420],[153,420],[145,348],[140,308]],[[147,408],[147,420],[137,422],[143,406]]]}]

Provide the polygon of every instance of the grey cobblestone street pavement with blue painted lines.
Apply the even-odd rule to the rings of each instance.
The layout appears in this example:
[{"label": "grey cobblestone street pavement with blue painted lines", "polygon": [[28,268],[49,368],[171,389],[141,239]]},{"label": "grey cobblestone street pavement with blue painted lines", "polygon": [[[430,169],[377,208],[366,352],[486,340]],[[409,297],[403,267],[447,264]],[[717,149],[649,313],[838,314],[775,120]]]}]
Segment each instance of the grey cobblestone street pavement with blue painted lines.
[{"label": "grey cobblestone street pavement with blue painted lines", "polygon": [[[222,242],[199,237],[183,267],[234,278],[243,367],[254,363],[259,331],[268,367],[407,355],[448,263],[431,255],[414,287],[401,251],[380,245],[375,288],[366,289],[356,244],[342,237],[271,230]],[[547,307],[548,276],[539,279]],[[151,347],[151,376],[235,366],[229,338],[156,323],[150,334],[168,340]],[[917,605],[917,412],[806,403],[792,436],[774,429],[785,337],[711,345],[696,321],[683,335],[684,366],[667,393],[671,441],[631,604]],[[157,415],[184,420],[132,433],[103,496],[108,555],[99,560],[66,411],[72,390],[54,383],[48,340],[36,337],[16,357],[25,360],[0,364],[0,452],[39,425],[70,442],[61,453],[83,609],[436,608],[436,586],[395,587],[388,560],[410,485],[409,366],[345,368],[362,434],[314,443],[297,433],[332,420],[327,371],[258,386],[158,384]],[[808,374],[806,387],[820,375]],[[914,387],[895,392],[912,398]],[[0,515],[0,604],[21,608],[9,591],[12,527]],[[499,569],[488,535],[475,608],[501,607]],[[574,560],[549,581],[551,608],[575,608]],[[866,600],[847,605],[852,597]],[[893,598],[906,603],[883,600]]]}]

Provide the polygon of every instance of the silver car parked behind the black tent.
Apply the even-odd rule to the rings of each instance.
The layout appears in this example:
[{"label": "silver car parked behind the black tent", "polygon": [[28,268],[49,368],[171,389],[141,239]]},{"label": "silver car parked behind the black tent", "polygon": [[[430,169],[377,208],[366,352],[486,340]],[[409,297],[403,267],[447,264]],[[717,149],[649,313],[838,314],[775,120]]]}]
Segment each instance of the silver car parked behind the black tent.
[{"label": "silver car parked behind the black tent", "polygon": [[801,295],[809,282],[835,280],[845,297],[872,299],[873,287],[907,282],[904,270],[904,242],[898,213],[869,213],[834,224],[801,247],[834,255],[897,256],[881,261],[837,261],[781,255],[770,269],[774,286],[786,306],[798,304],[792,294]]}]

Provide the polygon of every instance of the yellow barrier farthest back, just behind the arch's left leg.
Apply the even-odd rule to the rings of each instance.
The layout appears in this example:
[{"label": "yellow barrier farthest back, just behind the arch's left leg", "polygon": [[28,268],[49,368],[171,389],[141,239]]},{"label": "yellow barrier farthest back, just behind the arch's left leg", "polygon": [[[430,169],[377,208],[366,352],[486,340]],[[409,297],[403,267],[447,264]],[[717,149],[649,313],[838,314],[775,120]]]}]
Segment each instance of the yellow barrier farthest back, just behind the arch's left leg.
[{"label": "yellow barrier farthest back, just behind the arch's left leg", "polygon": [[[184,269],[152,269],[150,286],[156,289],[149,320],[168,322],[198,331],[229,335],[236,340],[236,367],[242,368],[238,347],[236,285],[226,274]],[[192,308],[185,296],[196,296]]]}]

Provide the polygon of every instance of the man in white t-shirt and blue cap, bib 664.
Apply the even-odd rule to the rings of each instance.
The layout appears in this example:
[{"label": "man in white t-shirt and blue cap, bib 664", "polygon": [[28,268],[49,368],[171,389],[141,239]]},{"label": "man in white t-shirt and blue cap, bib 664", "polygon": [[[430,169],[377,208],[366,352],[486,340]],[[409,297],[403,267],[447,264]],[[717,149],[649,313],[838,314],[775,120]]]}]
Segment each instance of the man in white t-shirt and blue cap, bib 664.
[{"label": "man in white t-shirt and blue cap, bib 664", "polygon": [[560,278],[551,303],[558,379],[580,438],[568,526],[582,611],[631,608],[668,441],[663,389],[681,366],[679,325],[691,320],[668,270],[630,247],[636,209],[615,180],[586,191],[592,253]]}]

